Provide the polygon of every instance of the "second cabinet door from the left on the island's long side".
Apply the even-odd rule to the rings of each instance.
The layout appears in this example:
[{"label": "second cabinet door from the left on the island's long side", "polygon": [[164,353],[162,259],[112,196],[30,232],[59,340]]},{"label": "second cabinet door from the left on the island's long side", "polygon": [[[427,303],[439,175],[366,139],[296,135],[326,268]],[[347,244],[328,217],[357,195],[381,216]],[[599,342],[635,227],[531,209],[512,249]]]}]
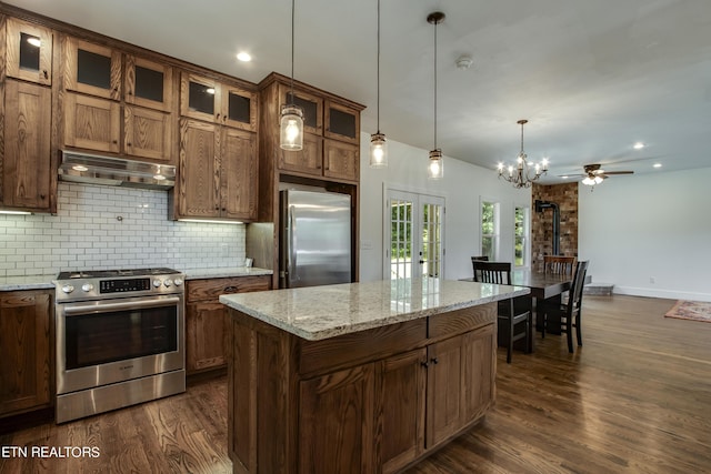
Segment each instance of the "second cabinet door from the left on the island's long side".
[{"label": "second cabinet door from the left on the island's long side", "polygon": [[375,363],[375,450],[383,474],[424,451],[427,365],[425,349]]}]

